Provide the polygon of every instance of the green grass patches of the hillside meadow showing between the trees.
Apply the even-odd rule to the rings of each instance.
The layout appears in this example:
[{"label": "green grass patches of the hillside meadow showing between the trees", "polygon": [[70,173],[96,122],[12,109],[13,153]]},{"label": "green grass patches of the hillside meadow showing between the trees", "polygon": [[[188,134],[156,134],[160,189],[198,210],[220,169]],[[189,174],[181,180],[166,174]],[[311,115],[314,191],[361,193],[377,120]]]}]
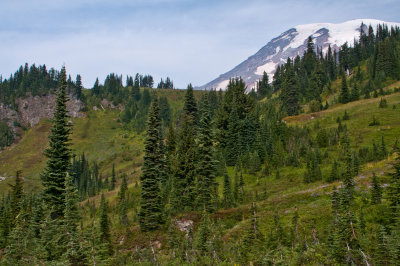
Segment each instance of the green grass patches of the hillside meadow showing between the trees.
[{"label": "green grass patches of the hillside meadow showing between the trees", "polygon": [[[387,89],[398,87],[399,82],[389,86]],[[158,90],[159,96],[166,96],[171,105],[173,116],[177,116],[183,108],[184,91],[179,90]],[[197,98],[203,92],[195,92]],[[328,110],[312,114],[301,114],[295,117],[287,117],[285,121],[288,125],[307,126],[312,129],[312,137],[315,137],[317,130],[314,129],[317,124],[319,128],[336,128],[337,117],[342,117],[346,110],[350,115],[350,120],[343,121],[349,129],[352,148],[363,146],[371,147],[372,140],[380,143],[381,136],[385,137],[387,149],[391,151],[391,146],[397,138],[400,137],[400,93],[394,93],[384,96],[387,99],[388,107],[379,108],[380,97],[359,100],[348,104],[336,104]],[[393,109],[393,105],[396,109]],[[379,126],[369,126],[372,116],[375,115],[379,120]],[[139,188],[135,186],[140,174],[140,166],[143,157],[144,134],[137,134],[128,131],[123,124],[119,122],[118,110],[100,110],[89,111],[84,118],[73,120],[72,149],[76,154],[85,153],[90,161],[98,161],[100,172],[103,177],[110,175],[111,167],[116,165],[117,173],[126,173],[129,183],[129,194],[136,200],[139,200]],[[37,190],[40,187],[39,173],[43,169],[45,158],[43,150],[47,144],[47,132],[50,128],[49,121],[42,120],[37,126],[29,129],[23,135],[18,144],[7,148],[0,153],[0,175],[6,173],[13,175],[15,170],[24,169],[27,188],[29,190]],[[321,149],[321,154],[329,151],[330,157],[338,156],[340,146]],[[357,193],[355,200],[356,205],[361,205],[364,192],[368,191],[371,183],[372,173],[375,172],[382,184],[388,183],[388,172],[390,172],[391,163],[394,157],[389,156],[387,159],[379,162],[371,162],[362,165],[360,174],[356,177]],[[330,163],[332,160],[324,161],[321,165],[323,177],[325,178],[330,172]],[[326,239],[329,232],[329,223],[331,217],[331,199],[330,193],[333,186],[340,186],[340,182],[331,184],[324,180],[305,184],[303,168],[282,167],[280,171],[280,179],[275,178],[275,172],[270,176],[266,176],[261,172],[256,175],[245,173],[243,175],[245,182],[246,201],[239,207],[228,210],[219,210],[212,215],[214,220],[218,220],[223,225],[223,239],[230,240],[242,237],[250,224],[251,213],[249,213],[252,201],[257,202],[258,223],[261,231],[268,234],[273,228],[274,216],[277,214],[284,228],[291,226],[292,217],[295,208],[298,209],[300,215],[299,230],[302,235],[309,236],[310,243],[313,241],[311,236],[311,228],[315,226],[318,237]],[[234,169],[228,168],[228,174],[234,176]],[[0,182],[0,192],[8,189],[7,184],[12,178]],[[118,179],[120,181],[120,179]],[[223,178],[218,177],[220,184],[219,193],[222,195]],[[267,198],[264,198],[264,183],[267,187]],[[257,191],[258,198],[255,198]],[[107,201],[115,209],[118,188],[114,191],[104,191]],[[93,217],[90,216],[87,203],[94,203],[98,206],[100,196],[95,196],[81,203],[84,207],[84,225],[90,225]],[[369,212],[367,212],[369,211]],[[365,219],[373,219],[379,216],[379,209],[373,208],[366,210]],[[129,209],[129,219],[133,217],[133,210]],[[199,221],[200,214],[198,212],[184,213],[179,218],[193,219],[195,223]],[[113,212],[110,215],[113,224],[113,239],[116,244],[124,237],[125,229],[118,225],[118,216]],[[288,230],[286,230],[288,231]],[[132,223],[130,227],[129,239],[126,236],[125,243],[121,248],[129,250],[134,245],[148,245],[146,236],[140,233],[137,222]],[[159,233],[151,236],[158,239],[166,246],[166,235]]]}]

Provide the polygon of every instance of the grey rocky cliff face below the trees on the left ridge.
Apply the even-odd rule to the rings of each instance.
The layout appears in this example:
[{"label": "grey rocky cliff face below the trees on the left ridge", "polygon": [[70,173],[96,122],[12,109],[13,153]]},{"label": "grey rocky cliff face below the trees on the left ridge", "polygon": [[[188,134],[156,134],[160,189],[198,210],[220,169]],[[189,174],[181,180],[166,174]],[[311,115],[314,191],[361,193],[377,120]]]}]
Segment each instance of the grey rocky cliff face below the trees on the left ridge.
[{"label": "grey rocky cliff face below the trees on the left ridge", "polygon": [[[56,106],[56,95],[48,94],[45,96],[31,96],[16,100],[18,110],[13,110],[11,106],[0,103],[0,121],[6,121],[12,128],[14,134],[18,132],[18,124],[25,127],[33,127],[42,118],[53,118]],[[80,110],[84,107],[83,103],[75,96],[69,95],[67,102],[68,114],[71,117],[83,117],[84,113]]]}]

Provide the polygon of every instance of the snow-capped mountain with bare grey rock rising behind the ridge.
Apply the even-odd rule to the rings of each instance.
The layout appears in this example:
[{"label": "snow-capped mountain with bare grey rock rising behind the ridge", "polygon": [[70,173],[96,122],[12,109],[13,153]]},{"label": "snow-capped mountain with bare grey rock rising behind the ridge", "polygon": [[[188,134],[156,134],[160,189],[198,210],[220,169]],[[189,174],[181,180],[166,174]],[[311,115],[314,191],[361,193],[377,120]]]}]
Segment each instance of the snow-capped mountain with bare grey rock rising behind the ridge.
[{"label": "snow-capped mountain with bare grey rock rising behind the ridge", "polygon": [[339,24],[315,23],[299,25],[272,39],[256,54],[213,81],[200,86],[199,89],[226,89],[229,79],[232,77],[242,77],[247,84],[247,88],[251,89],[255,87],[257,80],[261,78],[264,71],[268,73],[270,81],[272,81],[273,74],[279,64],[285,63],[288,57],[294,58],[304,53],[308,36],[313,38],[315,47],[322,48],[323,52],[327,51],[329,45],[331,45],[332,49],[338,49],[345,42],[352,46],[354,39],[358,39],[360,36],[361,23],[365,25],[365,32],[368,32],[369,25],[374,30],[376,30],[378,24],[386,24],[389,28],[391,26],[400,26],[400,23],[376,19],[356,19]]}]

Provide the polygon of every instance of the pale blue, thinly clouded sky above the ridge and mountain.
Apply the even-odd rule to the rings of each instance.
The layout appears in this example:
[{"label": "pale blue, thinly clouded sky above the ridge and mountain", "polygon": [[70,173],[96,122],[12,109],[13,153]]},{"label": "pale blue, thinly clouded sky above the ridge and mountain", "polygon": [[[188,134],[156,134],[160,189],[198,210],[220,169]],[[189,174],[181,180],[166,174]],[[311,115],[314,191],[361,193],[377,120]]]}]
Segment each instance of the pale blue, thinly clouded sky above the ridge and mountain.
[{"label": "pale blue, thinly clouded sky above the ridge and mountain", "polygon": [[200,86],[296,25],[399,14],[398,0],[0,0],[0,74],[27,62],[87,88],[137,72]]}]

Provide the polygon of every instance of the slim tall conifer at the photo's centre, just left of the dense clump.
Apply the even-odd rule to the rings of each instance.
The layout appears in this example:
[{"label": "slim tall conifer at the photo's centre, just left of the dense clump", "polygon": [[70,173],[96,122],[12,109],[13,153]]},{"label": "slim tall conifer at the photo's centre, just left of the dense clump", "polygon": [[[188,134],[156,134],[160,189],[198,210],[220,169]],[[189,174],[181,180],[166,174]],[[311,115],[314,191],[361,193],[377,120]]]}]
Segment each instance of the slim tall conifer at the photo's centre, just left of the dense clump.
[{"label": "slim tall conifer at the photo's centre, just left of the dense clump", "polygon": [[216,162],[213,158],[213,134],[211,117],[209,113],[208,97],[205,97],[203,103],[202,117],[199,128],[199,151],[197,165],[197,203],[200,208],[205,208],[207,211],[214,210],[212,206],[216,172]]}]

